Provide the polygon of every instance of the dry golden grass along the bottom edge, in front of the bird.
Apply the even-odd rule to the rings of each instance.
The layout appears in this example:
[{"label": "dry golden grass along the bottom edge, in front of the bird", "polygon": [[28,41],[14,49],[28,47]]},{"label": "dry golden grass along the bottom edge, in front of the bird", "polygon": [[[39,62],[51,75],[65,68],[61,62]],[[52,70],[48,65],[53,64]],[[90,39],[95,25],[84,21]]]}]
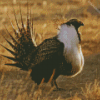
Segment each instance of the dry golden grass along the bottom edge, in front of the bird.
[{"label": "dry golden grass along the bottom edge, in front of the bird", "polygon": [[[50,100],[48,95],[54,90],[52,87],[43,97],[43,90],[41,89],[42,83],[36,88],[36,84],[32,85],[30,93],[27,93],[25,89],[27,88],[28,82],[25,84],[23,80],[16,80],[14,83],[17,84],[13,87],[12,83],[6,82],[2,85],[5,74],[2,74],[0,79],[0,100]],[[25,84],[25,86],[24,86]],[[95,80],[94,83],[88,83],[85,88],[82,88],[82,97],[85,100],[100,100],[100,83]],[[83,100],[76,93],[73,97],[62,99],[59,96],[57,99],[53,100]]]}]

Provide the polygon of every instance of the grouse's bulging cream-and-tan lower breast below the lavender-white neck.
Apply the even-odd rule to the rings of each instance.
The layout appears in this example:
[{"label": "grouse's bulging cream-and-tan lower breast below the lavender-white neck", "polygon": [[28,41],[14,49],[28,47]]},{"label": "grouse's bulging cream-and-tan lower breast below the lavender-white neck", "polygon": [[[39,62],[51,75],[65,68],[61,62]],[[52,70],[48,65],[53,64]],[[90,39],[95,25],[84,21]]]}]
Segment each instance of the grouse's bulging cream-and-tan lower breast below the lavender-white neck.
[{"label": "grouse's bulging cream-and-tan lower breast below the lavender-white neck", "polygon": [[84,57],[80,48],[74,49],[64,49],[64,58],[66,61],[66,74],[68,73],[69,76],[73,77],[79,74],[84,66]]}]

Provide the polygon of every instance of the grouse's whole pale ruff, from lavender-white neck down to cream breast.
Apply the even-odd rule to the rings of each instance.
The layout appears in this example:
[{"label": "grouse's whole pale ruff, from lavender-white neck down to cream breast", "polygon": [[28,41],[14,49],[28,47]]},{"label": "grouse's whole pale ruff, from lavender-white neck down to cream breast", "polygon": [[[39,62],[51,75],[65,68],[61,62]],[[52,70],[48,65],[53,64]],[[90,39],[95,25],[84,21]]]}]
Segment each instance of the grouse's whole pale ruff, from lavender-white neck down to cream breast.
[{"label": "grouse's whole pale ruff, from lavender-white neck down to cream breast", "polygon": [[64,52],[66,62],[72,65],[72,75],[80,73],[84,66],[84,57],[79,44],[79,38],[74,26],[63,25],[58,34],[58,40],[64,43]]}]

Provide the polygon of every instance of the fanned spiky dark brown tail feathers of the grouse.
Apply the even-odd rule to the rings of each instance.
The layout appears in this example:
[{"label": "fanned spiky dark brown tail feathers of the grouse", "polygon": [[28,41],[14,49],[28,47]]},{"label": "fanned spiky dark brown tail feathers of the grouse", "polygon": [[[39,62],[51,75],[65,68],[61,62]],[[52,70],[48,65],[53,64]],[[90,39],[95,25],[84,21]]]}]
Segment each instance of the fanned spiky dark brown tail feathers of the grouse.
[{"label": "fanned spiky dark brown tail feathers of the grouse", "polygon": [[2,56],[6,57],[10,60],[15,61],[14,64],[8,63],[8,64],[5,64],[5,65],[16,66],[16,67],[19,67],[23,70],[28,70],[29,66],[30,66],[31,52],[35,51],[37,45],[36,45],[36,42],[35,42],[35,34],[33,32],[33,19],[31,18],[31,10],[30,10],[30,14],[29,14],[28,2],[27,2],[27,29],[25,29],[25,27],[24,27],[20,5],[19,5],[19,9],[20,9],[22,28],[20,28],[19,25],[18,25],[16,13],[15,13],[15,10],[14,10],[14,7],[13,7],[13,13],[14,13],[14,16],[15,16],[15,21],[16,21],[16,25],[17,25],[17,28],[18,28],[18,32],[14,28],[14,26],[13,26],[11,20],[10,20],[10,17],[7,14],[7,16],[10,20],[10,24],[13,28],[14,33],[15,33],[15,37],[13,37],[9,33],[8,29],[5,27],[6,30],[7,30],[7,33],[9,34],[11,39],[13,40],[13,43],[8,41],[5,37],[4,38],[7,41],[7,43],[13,48],[13,51],[6,48],[3,45],[1,45],[7,51],[9,51],[14,57],[9,57],[9,56],[5,56],[5,55],[2,55]]}]

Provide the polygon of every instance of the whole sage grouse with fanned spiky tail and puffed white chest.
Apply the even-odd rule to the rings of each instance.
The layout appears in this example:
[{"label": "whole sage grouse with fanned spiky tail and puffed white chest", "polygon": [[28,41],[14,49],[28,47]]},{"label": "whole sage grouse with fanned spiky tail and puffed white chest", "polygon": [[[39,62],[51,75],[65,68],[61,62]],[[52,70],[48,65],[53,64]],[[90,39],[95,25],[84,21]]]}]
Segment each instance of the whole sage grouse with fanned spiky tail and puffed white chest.
[{"label": "whole sage grouse with fanned spiky tail and puffed white chest", "polygon": [[32,18],[27,16],[26,29],[23,23],[21,8],[21,28],[18,25],[15,11],[14,15],[18,27],[17,32],[11,23],[15,37],[5,27],[13,43],[4,37],[13,50],[2,44],[1,46],[14,57],[2,56],[13,60],[15,63],[6,63],[5,65],[16,66],[22,70],[31,69],[30,76],[38,85],[42,79],[44,79],[44,82],[48,82],[51,78],[51,84],[55,85],[57,89],[59,87],[56,79],[59,75],[75,77],[82,71],[84,56],[81,49],[81,34],[78,28],[84,26],[83,22],[78,19],[70,19],[60,25],[56,36],[45,39],[37,45],[33,32]]}]

